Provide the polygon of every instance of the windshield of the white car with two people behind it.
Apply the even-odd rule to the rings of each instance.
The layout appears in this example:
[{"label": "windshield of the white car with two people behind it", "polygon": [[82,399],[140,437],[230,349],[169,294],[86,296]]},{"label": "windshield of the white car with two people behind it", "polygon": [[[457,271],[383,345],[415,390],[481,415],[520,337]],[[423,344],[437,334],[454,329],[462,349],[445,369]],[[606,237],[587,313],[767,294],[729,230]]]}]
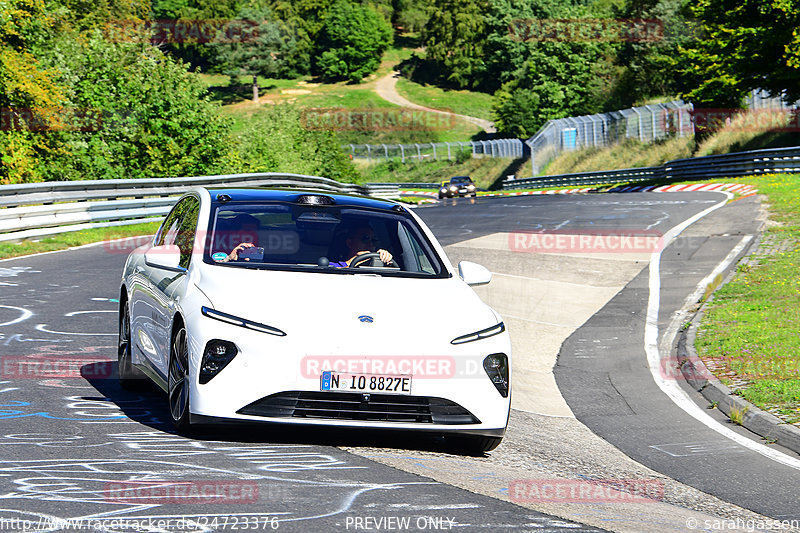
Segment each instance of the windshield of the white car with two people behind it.
[{"label": "windshield of the white car with two people behind it", "polygon": [[[230,202],[212,206],[208,231],[204,261],[211,264],[338,274],[449,276],[419,225],[404,213],[335,205]],[[393,262],[381,266],[373,261],[380,250],[388,251]],[[351,261],[363,252],[374,255],[360,263]]]}]

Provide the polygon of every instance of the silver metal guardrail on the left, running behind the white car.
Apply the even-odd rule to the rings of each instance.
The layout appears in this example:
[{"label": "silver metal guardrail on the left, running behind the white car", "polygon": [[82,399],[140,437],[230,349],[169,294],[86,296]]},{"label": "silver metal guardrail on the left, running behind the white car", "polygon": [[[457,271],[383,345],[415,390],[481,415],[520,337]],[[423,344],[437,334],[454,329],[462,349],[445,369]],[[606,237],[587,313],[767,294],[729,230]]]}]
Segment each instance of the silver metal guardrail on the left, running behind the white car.
[{"label": "silver metal guardrail on the left, running behind the white car", "polygon": [[266,172],[188,178],[86,180],[0,186],[0,242],[160,220],[176,196],[197,186],[294,187],[383,198],[396,184],[355,185]]}]

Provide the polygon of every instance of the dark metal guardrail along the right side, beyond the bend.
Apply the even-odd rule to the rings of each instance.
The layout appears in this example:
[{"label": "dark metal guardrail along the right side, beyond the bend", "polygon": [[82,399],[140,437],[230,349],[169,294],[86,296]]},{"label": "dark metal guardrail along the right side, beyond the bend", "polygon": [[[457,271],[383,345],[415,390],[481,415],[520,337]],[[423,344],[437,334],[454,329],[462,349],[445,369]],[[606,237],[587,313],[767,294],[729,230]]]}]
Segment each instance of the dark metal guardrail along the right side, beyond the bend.
[{"label": "dark metal guardrail along the right side, beyond the bend", "polygon": [[503,182],[503,189],[541,189],[544,187],[603,185],[648,180],[705,180],[799,171],[800,147],[795,146],[676,159],[658,167],[579,172],[506,180]]}]

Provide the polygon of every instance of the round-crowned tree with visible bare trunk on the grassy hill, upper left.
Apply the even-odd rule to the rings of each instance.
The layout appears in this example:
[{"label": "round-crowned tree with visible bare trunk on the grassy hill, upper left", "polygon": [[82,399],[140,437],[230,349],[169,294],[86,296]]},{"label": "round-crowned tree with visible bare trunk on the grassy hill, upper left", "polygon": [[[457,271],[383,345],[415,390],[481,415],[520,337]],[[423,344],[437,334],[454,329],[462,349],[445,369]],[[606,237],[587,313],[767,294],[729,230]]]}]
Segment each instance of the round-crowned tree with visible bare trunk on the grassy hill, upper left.
[{"label": "round-crowned tree with visible bare trunk on the grassy hill, upper left", "polygon": [[258,76],[283,74],[295,41],[268,8],[245,8],[239,20],[231,21],[217,34],[213,46],[218,68],[231,77],[232,85],[238,84],[239,76],[252,76],[253,101],[258,102]]}]

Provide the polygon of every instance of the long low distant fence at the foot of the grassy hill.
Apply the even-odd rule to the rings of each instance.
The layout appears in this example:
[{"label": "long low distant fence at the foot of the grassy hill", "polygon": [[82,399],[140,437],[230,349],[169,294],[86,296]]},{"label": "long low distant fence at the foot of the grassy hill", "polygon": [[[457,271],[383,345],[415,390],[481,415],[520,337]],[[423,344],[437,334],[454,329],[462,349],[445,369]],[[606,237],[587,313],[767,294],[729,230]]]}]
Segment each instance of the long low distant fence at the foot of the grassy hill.
[{"label": "long low distant fence at the foot of the grassy hill", "polygon": [[346,144],[345,151],[353,159],[369,161],[400,160],[432,161],[453,160],[458,154],[470,157],[524,157],[527,147],[520,139],[494,139],[489,141],[414,143],[414,144]]}]

